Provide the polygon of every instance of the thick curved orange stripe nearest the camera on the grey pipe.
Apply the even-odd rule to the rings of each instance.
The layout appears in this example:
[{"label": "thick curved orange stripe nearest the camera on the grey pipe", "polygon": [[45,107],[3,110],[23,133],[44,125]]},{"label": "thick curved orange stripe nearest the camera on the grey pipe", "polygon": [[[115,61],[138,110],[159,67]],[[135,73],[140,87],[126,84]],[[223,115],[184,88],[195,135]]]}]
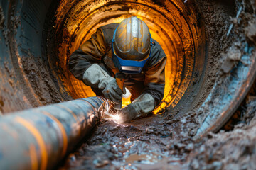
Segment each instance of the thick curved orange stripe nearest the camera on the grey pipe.
[{"label": "thick curved orange stripe nearest the camera on the grey pipe", "polygon": [[[33,135],[33,137],[35,137],[36,142],[38,142],[38,146],[40,148],[41,151],[41,170],[46,169],[47,167],[47,151],[46,151],[46,144],[43,140],[43,137],[41,136],[40,132],[36,129],[36,127],[34,127],[34,125],[30,122],[28,122],[28,120],[25,120],[21,117],[16,117],[15,118],[16,122],[20,123],[21,125],[23,125],[29,132],[31,132],[31,134]],[[33,159],[33,158],[32,158]],[[32,162],[32,160],[31,160]],[[31,166],[33,167],[34,165],[31,164]]]}]

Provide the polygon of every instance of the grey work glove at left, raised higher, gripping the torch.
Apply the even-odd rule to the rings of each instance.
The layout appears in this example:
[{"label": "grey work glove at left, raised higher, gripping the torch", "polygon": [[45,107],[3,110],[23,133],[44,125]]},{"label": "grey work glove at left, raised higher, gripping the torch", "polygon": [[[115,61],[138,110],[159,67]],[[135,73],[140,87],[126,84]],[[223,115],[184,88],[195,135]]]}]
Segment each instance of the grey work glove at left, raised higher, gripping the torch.
[{"label": "grey work glove at left, raised higher, gripping the torch", "polygon": [[[105,98],[115,104],[122,102],[122,90],[117,85],[116,79],[107,74],[98,64],[92,64],[85,71],[82,79],[85,85],[100,89]],[[123,92],[125,94],[125,88]]]}]

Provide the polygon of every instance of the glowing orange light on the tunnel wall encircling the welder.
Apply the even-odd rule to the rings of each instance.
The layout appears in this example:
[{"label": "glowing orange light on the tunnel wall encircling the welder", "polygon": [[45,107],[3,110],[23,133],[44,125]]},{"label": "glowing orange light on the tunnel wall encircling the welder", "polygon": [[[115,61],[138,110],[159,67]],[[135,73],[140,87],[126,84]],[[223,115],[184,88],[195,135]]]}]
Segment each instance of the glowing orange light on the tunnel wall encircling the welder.
[{"label": "glowing orange light on the tunnel wall encircling the welder", "polygon": [[[66,0],[61,1],[59,9],[69,11],[71,4]],[[132,0],[124,1],[79,1],[72,11],[69,11],[65,22],[66,29],[63,35],[66,40],[59,45],[58,66],[62,69],[62,74],[58,74],[61,83],[65,86],[65,91],[73,98],[86,98],[95,96],[89,86],[85,86],[82,81],[75,79],[68,71],[68,59],[70,53],[77,50],[82,43],[90,38],[92,33],[100,26],[109,23],[120,23],[124,18],[137,16],[142,19],[151,32],[154,40],[159,42],[167,56],[166,62],[166,86],[164,99],[155,109],[154,113],[161,112],[166,107],[173,108],[190,86],[194,67],[201,72],[203,68],[195,60],[198,46],[204,42],[203,28],[196,28],[196,15],[193,10],[188,10],[181,1],[164,1],[161,7],[152,1]],[[191,11],[189,15],[181,11]],[[56,28],[58,22],[63,21],[63,10],[56,13]],[[67,16],[66,16],[67,17]],[[196,35],[197,37],[193,37]],[[75,39],[72,39],[74,38]],[[73,40],[71,42],[71,39]],[[67,43],[69,42],[69,43]],[[203,48],[198,53],[204,56]],[[200,59],[200,62],[203,62]],[[186,64],[186,65],[184,65]],[[64,91],[63,91],[64,93]],[[122,107],[130,103],[129,98],[123,98]]]}]

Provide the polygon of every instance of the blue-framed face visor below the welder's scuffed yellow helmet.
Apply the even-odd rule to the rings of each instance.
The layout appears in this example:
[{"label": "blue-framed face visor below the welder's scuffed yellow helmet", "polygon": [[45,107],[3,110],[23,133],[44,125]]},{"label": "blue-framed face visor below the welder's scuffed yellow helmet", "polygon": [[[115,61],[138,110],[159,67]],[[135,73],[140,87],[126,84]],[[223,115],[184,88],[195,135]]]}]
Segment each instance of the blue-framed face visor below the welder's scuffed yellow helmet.
[{"label": "blue-framed face visor below the welder's scuffed yellow helmet", "polygon": [[142,72],[142,69],[144,67],[144,64],[146,61],[149,59],[151,56],[151,50],[152,50],[152,45],[154,42],[152,41],[151,35],[150,35],[150,52],[149,52],[149,57],[147,57],[145,60],[142,61],[134,61],[134,60],[123,60],[122,58],[118,57],[114,53],[114,37],[117,29],[114,30],[114,35],[112,41],[112,60],[114,62],[114,66],[119,69],[119,72],[122,72],[124,74],[138,74]]}]

